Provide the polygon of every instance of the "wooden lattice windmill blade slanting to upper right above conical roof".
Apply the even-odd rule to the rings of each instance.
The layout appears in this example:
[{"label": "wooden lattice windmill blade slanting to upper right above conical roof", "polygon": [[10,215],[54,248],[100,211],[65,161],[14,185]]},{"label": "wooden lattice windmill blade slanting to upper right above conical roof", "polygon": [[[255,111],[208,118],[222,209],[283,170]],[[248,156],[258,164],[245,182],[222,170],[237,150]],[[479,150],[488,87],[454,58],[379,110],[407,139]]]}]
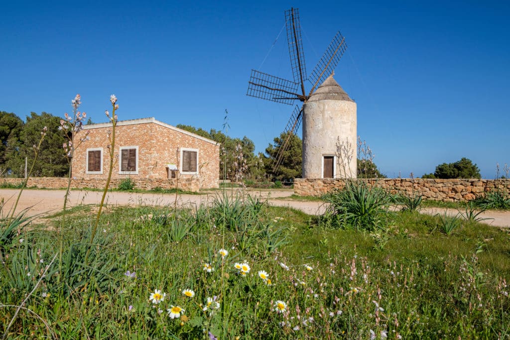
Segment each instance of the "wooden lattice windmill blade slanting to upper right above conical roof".
[{"label": "wooden lattice windmill blade slanting to upper right above conical roof", "polygon": [[346,49],[347,44],[345,43],[345,38],[340,32],[337,32],[314,70],[308,77],[308,80],[313,85],[310,95],[313,93],[317,85],[324,83],[326,78],[333,73]]}]

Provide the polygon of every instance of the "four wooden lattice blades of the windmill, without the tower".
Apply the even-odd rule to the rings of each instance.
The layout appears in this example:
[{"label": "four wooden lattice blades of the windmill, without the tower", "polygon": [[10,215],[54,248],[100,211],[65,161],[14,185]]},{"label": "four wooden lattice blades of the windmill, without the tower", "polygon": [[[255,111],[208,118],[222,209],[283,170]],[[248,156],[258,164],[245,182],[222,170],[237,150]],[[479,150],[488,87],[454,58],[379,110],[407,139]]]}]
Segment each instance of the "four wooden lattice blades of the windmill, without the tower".
[{"label": "four wooden lattice blades of the windmill, without the tower", "polygon": [[[337,32],[326,48],[324,55],[320,58],[310,76],[307,77],[297,8],[291,8],[285,11],[285,22],[293,80],[286,80],[252,69],[248,81],[248,91],[246,93],[248,96],[289,104],[291,106],[294,105],[296,99],[303,103],[302,106],[295,105],[289,121],[285,126],[284,133],[287,138],[274,158],[273,172],[282,164],[284,153],[289,147],[290,140],[301,125],[304,104],[310,99],[311,95],[317,89],[317,86],[322,84],[334,73],[335,67],[347,48],[344,37],[340,32]],[[312,84],[312,88],[308,94],[305,91],[304,83],[306,80]]]}]

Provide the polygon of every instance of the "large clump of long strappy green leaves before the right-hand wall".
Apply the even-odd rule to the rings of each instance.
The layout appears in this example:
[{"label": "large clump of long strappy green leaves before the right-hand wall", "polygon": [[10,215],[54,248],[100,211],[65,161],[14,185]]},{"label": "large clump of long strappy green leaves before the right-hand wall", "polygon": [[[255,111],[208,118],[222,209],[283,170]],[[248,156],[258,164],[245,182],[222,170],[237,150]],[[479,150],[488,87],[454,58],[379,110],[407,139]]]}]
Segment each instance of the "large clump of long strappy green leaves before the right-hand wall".
[{"label": "large clump of long strappy green leaves before the right-hand wall", "polygon": [[333,226],[373,231],[386,222],[393,197],[365,182],[348,181],[343,190],[324,196],[324,200],[329,203],[326,219]]}]

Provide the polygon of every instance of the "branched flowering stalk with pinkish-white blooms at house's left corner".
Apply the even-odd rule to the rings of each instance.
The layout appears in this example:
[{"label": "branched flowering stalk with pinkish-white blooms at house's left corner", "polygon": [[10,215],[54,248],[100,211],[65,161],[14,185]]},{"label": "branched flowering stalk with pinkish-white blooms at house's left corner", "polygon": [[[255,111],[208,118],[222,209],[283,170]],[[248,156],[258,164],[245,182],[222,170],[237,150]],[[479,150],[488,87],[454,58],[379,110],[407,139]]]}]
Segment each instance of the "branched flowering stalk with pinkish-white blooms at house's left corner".
[{"label": "branched flowering stalk with pinkish-white blooms at house's left corner", "polygon": [[74,151],[78,149],[78,147],[89,139],[89,132],[85,133],[85,136],[78,140],[77,143],[75,141],[76,135],[80,132],[83,126],[83,120],[87,118],[87,113],[81,113],[78,111],[80,104],[82,103],[82,97],[80,94],[77,94],[74,99],[71,100],[72,103],[72,116],[69,116],[64,113],[64,119],[60,120],[59,130],[64,132],[64,136],[68,139],[67,143],[62,145],[67,157],[67,163],[69,164],[69,175],[67,177],[67,190],[65,192],[64,197],[64,210],[62,211],[62,220],[60,226],[64,226],[65,221],[65,212],[67,206],[67,200],[69,198],[69,189],[71,188],[71,172],[72,172],[72,160],[74,156]]}]

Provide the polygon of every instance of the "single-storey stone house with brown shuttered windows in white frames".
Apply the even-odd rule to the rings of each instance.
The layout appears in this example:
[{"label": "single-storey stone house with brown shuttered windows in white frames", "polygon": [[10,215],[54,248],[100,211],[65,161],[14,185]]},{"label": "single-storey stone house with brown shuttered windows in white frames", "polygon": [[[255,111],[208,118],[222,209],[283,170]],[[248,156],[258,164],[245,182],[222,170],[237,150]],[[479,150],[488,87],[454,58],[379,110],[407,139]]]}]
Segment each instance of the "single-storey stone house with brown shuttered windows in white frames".
[{"label": "single-storey stone house with brown shuttered windows in white frames", "polygon": [[[77,138],[85,132],[89,139],[74,152],[74,179],[105,179],[108,177],[110,151],[108,133],[112,123],[84,125]],[[113,179],[132,178],[172,187],[176,181],[193,182],[194,188],[219,186],[219,147],[210,139],[160,122],[142,118],[117,122],[115,128],[115,160]],[[155,185],[156,187],[156,185]],[[181,186],[180,186],[181,188]]]}]

